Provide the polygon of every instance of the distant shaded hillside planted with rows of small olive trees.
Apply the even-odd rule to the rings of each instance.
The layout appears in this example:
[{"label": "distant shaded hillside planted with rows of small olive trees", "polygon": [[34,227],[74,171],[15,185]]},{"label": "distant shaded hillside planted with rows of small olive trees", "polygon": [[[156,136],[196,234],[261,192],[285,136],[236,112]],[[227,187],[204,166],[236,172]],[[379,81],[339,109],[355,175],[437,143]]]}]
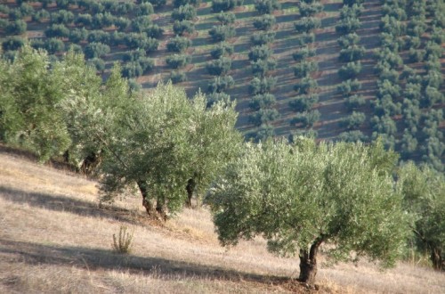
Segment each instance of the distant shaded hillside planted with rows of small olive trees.
[{"label": "distant shaded hillside planted with rows of small olive trees", "polygon": [[236,100],[247,138],[380,135],[443,170],[442,0],[150,2],[3,1],[4,55],[20,38],[56,56],[73,46],[143,88],[172,78]]}]

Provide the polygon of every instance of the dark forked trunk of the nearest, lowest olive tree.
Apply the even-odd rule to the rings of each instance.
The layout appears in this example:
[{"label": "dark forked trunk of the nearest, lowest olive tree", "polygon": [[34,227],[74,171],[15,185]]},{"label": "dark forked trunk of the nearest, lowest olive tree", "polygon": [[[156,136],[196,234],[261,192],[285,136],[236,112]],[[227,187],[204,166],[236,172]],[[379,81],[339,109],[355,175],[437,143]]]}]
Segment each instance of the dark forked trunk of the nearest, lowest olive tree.
[{"label": "dark forked trunk of the nearest, lowest olive tree", "polygon": [[317,254],[323,238],[317,238],[311,246],[311,249],[300,249],[300,276],[298,280],[309,286],[315,284],[315,276],[317,275]]}]

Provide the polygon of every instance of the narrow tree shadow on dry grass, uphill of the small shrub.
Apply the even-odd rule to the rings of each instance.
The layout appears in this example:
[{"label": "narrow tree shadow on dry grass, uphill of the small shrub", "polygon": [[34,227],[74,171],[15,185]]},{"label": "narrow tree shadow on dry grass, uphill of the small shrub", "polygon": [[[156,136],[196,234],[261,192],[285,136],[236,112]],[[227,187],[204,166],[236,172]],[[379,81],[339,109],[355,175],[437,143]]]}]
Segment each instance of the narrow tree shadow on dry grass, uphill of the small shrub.
[{"label": "narrow tree shadow on dry grass, uphill of the small shrub", "polygon": [[98,203],[69,198],[66,195],[54,195],[43,192],[26,192],[20,189],[0,185],[0,198],[14,203],[26,203],[30,207],[53,211],[69,212],[78,216],[108,218],[139,225],[136,212],[126,208],[110,206],[99,207]]}]

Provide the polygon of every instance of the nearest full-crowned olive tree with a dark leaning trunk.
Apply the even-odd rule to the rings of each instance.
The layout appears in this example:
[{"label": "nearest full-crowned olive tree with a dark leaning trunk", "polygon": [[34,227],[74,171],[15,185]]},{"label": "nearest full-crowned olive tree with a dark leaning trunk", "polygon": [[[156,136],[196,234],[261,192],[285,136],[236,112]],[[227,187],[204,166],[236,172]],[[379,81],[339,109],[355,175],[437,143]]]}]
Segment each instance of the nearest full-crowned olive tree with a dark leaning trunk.
[{"label": "nearest full-crowned olive tree with a dark leaning trunk", "polygon": [[310,285],[322,244],[334,245],[325,248],[333,261],[394,265],[408,226],[391,175],[396,159],[379,142],[247,143],[207,194],[219,240],[261,235],[271,252],[300,257],[299,280]]}]

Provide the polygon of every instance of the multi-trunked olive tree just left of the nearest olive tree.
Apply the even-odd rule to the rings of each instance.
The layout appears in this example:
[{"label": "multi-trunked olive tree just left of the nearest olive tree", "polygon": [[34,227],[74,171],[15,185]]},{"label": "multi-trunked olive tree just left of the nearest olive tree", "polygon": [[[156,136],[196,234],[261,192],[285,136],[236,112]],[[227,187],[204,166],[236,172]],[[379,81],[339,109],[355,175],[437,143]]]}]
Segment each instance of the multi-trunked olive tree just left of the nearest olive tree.
[{"label": "multi-trunked olive tree just left of the nearest olive tree", "polygon": [[74,95],[64,109],[77,134],[101,148],[103,199],[136,186],[147,213],[166,219],[182,208],[187,192],[206,189],[231,161],[239,137],[233,127],[236,112],[223,102],[207,109],[202,94],[190,100],[171,84],[129,94],[119,70],[113,71],[106,93],[97,99]]}]

